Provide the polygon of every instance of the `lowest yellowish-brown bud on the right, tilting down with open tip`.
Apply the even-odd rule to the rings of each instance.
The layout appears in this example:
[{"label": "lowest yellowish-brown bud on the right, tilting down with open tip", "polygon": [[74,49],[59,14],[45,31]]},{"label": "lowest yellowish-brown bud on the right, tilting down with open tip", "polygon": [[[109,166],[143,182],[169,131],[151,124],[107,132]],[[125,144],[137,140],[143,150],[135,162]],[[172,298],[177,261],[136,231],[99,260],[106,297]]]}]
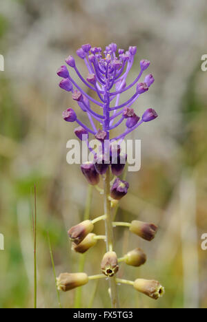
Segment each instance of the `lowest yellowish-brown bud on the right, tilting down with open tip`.
[{"label": "lowest yellowish-brown bud on the right, tilting down with open tip", "polygon": [[148,279],[136,279],[134,288],[152,299],[159,299],[165,292],[164,287],[158,281],[150,281]]}]

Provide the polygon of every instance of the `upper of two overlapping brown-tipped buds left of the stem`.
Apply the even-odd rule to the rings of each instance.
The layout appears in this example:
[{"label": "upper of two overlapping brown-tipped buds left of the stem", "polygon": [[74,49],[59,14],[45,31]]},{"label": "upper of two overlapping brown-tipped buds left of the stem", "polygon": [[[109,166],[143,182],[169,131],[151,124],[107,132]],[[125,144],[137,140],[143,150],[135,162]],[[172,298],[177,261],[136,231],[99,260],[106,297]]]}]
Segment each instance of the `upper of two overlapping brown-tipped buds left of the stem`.
[{"label": "upper of two overlapping brown-tipped buds left of the stem", "polygon": [[70,230],[68,230],[68,236],[71,241],[73,241],[76,245],[79,245],[81,241],[92,232],[93,228],[94,225],[92,222],[90,220],[85,220],[77,226],[70,228]]}]

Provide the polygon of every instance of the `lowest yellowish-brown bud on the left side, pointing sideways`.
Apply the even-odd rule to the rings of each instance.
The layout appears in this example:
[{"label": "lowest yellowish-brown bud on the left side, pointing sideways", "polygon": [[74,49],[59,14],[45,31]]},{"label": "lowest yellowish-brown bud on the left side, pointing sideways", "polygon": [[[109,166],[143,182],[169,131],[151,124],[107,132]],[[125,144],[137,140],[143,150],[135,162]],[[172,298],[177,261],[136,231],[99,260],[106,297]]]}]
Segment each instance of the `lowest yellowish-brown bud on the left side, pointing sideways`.
[{"label": "lowest yellowish-brown bud on the left side, pointing sideways", "polygon": [[57,288],[63,292],[78,288],[88,283],[88,275],[85,273],[62,273],[57,277]]}]

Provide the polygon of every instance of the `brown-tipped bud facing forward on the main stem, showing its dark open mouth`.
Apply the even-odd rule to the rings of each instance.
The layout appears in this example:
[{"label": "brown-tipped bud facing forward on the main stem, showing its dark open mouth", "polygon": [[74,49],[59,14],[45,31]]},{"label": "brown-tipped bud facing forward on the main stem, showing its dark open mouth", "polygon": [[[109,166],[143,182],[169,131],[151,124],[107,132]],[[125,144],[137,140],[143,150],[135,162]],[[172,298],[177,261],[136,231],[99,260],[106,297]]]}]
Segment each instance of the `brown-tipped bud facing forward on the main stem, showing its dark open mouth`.
[{"label": "brown-tipped bud facing forward on the main stem, showing its dark open mouth", "polygon": [[103,274],[108,277],[112,277],[118,272],[119,265],[117,254],[115,252],[108,252],[103,256],[101,261],[101,270]]}]

